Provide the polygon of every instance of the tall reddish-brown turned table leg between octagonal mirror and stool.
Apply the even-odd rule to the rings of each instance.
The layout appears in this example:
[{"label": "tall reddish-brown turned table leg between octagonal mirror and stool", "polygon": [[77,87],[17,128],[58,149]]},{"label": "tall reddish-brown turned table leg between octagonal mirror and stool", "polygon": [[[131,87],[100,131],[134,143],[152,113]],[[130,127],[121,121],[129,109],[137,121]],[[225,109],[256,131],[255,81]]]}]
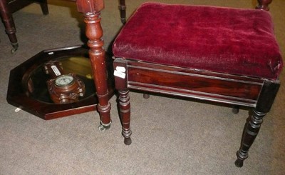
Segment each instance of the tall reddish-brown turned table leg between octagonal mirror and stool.
[{"label": "tall reddish-brown turned table leg between octagonal mirror and stool", "polygon": [[98,96],[97,105],[100,114],[100,131],[110,128],[110,103],[108,98],[108,77],[103,49],[103,29],[100,24],[100,11],[104,8],[103,0],[77,0],[78,11],[84,14],[86,23],[86,36],[90,47],[89,56],[93,69],[93,79]]}]

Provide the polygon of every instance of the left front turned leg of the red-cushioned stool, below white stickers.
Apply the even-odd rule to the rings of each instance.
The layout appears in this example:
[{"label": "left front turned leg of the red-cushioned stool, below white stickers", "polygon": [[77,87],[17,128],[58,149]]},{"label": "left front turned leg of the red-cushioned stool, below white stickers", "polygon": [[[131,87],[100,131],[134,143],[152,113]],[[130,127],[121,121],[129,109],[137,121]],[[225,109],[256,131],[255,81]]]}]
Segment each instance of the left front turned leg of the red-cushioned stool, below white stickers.
[{"label": "left front turned leg of the red-cushioned stool, below white stickers", "polygon": [[123,125],[122,135],[125,137],[124,143],[130,145],[132,143],[130,139],[132,131],[130,130],[130,96],[128,90],[119,91],[119,110]]}]

